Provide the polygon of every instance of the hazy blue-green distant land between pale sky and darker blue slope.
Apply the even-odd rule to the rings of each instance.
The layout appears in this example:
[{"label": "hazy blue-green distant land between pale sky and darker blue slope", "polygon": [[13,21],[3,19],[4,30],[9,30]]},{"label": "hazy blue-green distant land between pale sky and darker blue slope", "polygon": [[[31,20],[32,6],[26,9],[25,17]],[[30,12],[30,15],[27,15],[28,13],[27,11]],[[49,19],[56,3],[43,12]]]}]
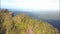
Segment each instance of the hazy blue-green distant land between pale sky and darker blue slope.
[{"label": "hazy blue-green distant land between pale sky and darker blue slope", "polygon": [[[36,15],[38,19],[44,19],[44,20],[59,20],[59,11],[22,11],[22,10],[16,10],[16,9],[9,9],[12,12],[15,12],[15,14],[24,13],[30,16]],[[35,17],[35,16],[34,16]],[[36,17],[36,18],[37,18]]]}]

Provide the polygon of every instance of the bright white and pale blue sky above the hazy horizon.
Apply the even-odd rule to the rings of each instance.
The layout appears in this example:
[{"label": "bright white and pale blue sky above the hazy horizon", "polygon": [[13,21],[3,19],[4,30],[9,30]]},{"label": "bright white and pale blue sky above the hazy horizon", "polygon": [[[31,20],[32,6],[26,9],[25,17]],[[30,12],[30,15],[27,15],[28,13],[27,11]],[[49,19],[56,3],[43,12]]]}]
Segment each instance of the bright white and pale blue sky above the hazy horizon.
[{"label": "bright white and pale blue sky above the hazy horizon", "polygon": [[59,10],[59,0],[0,0],[1,8],[31,10]]}]

